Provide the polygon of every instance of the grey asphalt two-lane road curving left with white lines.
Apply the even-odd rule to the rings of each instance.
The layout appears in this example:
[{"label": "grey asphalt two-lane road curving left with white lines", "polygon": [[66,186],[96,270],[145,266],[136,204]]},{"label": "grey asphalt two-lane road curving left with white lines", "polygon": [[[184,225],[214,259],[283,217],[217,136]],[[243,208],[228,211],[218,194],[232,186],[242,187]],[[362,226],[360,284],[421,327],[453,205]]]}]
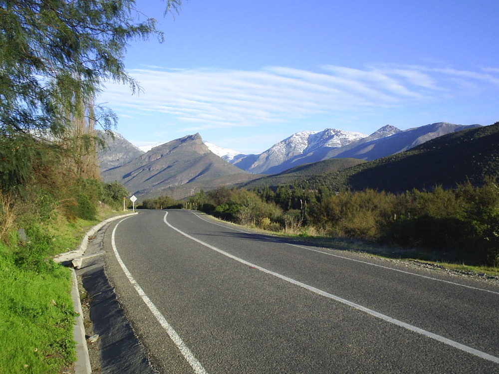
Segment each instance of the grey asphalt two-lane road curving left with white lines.
[{"label": "grey asphalt two-lane road curving left with white lines", "polygon": [[499,287],[286,243],[193,211],[106,231],[159,373],[499,373]]}]

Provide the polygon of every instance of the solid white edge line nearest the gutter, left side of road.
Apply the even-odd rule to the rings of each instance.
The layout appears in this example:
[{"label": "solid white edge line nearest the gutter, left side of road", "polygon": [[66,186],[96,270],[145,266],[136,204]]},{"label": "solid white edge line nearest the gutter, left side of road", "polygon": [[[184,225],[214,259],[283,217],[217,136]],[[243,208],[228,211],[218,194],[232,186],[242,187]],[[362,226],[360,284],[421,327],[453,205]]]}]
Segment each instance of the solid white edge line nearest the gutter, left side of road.
[{"label": "solid white edge line nearest the gutter, left side of road", "polygon": [[156,308],[156,306],[153,304],[151,299],[149,299],[149,297],[146,295],[146,293],[142,290],[142,287],[140,287],[139,284],[135,281],[132,274],[130,273],[130,271],[126,267],[125,263],[121,259],[121,256],[118,253],[118,249],[116,248],[116,244],[115,244],[115,240],[114,240],[115,232],[116,232],[116,228],[118,227],[118,225],[121,222],[123,222],[125,219],[128,219],[128,218],[130,218],[130,217],[124,218],[121,221],[119,221],[116,224],[116,226],[114,226],[113,233],[111,235],[111,244],[112,244],[114,255],[116,256],[116,259],[118,260],[121,268],[123,269],[126,277],[130,281],[130,283],[134,286],[135,290],[138,292],[138,294],[140,295],[140,297],[142,298],[144,303],[147,305],[147,307],[151,310],[152,314],[154,315],[154,317],[156,317],[156,319],[158,320],[160,325],[166,330],[166,332],[170,336],[170,339],[173,341],[173,343],[180,350],[180,352],[182,353],[184,358],[187,360],[189,365],[193,368],[194,372],[196,374],[208,374],[208,372],[203,368],[201,363],[196,359],[194,354],[191,352],[189,347],[187,347],[187,345],[184,343],[184,341],[182,340],[180,335],[177,334],[177,332],[173,329],[173,327],[168,323],[166,318],[161,314],[161,312],[158,310],[158,308]]}]

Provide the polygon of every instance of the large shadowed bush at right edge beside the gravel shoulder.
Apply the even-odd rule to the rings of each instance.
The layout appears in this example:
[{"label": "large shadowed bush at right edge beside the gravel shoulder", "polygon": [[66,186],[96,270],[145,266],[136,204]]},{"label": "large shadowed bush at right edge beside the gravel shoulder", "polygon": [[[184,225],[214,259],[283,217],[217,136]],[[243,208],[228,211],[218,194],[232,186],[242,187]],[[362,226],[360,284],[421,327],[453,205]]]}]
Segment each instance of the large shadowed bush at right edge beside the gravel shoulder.
[{"label": "large shadowed bush at right edge beside the gravel shoulder", "polygon": [[494,179],[482,187],[468,182],[455,190],[413,190],[397,198],[396,211],[403,214],[389,224],[383,241],[498,262],[499,188]]}]

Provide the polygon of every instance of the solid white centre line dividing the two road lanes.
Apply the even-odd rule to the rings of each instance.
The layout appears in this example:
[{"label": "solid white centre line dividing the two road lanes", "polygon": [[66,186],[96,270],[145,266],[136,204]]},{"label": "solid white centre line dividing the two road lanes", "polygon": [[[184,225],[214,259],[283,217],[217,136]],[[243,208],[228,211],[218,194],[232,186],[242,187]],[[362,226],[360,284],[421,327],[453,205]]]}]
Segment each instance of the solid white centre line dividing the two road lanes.
[{"label": "solid white centre line dividing the two road lanes", "polygon": [[341,298],[341,297],[338,297],[338,296],[335,296],[335,295],[330,294],[330,293],[328,293],[328,292],[322,291],[322,290],[320,290],[320,289],[318,289],[318,288],[315,288],[315,287],[309,286],[309,285],[307,285],[307,284],[305,284],[305,283],[301,283],[301,282],[299,282],[299,281],[297,281],[297,280],[294,280],[294,279],[288,278],[288,277],[286,277],[286,276],[284,276],[284,275],[281,275],[281,274],[279,274],[279,273],[275,273],[275,272],[273,272],[273,271],[271,271],[271,270],[267,270],[267,269],[265,269],[265,268],[263,268],[263,267],[261,267],[261,266],[258,266],[258,265],[256,265],[256,264],[253,264],[253,263],[251,263],[251,262],[248,262],[248,261],[246,261],[246,260],[243,260],[242,258],[236,257],[236,256],[234,256],[234,255],[232,255],[232,254],[230,254],[230,253],[227,253],[227,252],[225,252],[225,251],[223,251],[223,250],[221,250],[221,249],[219,249],[219,248],[217,248],[217,247],[214,247],[213,245],[210,245],[210,244],[208,244],[208,243],[205,243],[205,242],[204,242],[204,241],[202,241],[202,240],[196,239],[195,237],[193,237],[193,236],[191,236],[191,235],[189,235],[189,234],[187,234],[187,233],[185,233],[185,232],[181,231],[181,230],[180,230],[180,229],[178,229],[177,227],[172,226],[172,225],[171,225],[171,224],[170,224],[170,223],[166,220],[167,215],[168,215],[168,212],[166,212],[166,213],[165,213],[165,216],[163,217],[163,220],[165,221],[165,223],[166,223],[166,224],[167,224],[170,228],[174,229],[175,231],[179,232],[180,234],[184,235],[185,237],[187,237],[187,238],[189,238],[189,239],[191,239],[191,240],[194,240],[194,241],[196,241],[196,242],[198,242],[198,243],[200,243],[200,244],[202,244],[202,245],[204,245],[204,246],[206,246],[206,247],[208,247],[208,248],[210,248],[210,249],[213,249],[213,250],[214,250],[214,251],[216,251],[216,252],[219,252],[219,253],[221,253],[221,254],[223,254],[223,255],[225,255],[225,256],[227,256],[227,257],[229,257],[229,258],[232,258],[233,260],[239,261],[239,262],[241,262],[242,264],[245,264],[245,265],[248,265],[248,266],[253,267],[253,268],[255,268],[255,269],[258,269],[258,270],[260,270],[260,271],[262,271],[262,272],[264,272],[264,273],[267,273],[267,274],[273,275],[273,276],[275,276],[275,277],[277,277],[277,278],[280,278],[280,279],[282,279],[282,280],[284,280],[284,281],[286,281],[286,282],[292,283],[292,284],[294,284],[294,285],[296,285],[296,286],[303,287],[303,288],[305,288],[305,289],[307,289],[307,290],[309,290],[309,291],[312,291],[312,292],[314,292],[314,293],[316,293],[316,294],[318,294],[318,295],[321,295],[321,296],[327,297],[327,298],[329,298],[329,299],[335,300],[335,301],[337,301],[337,302],[340,302],[340,303],[346,304],[346,305],[348,305],[348,306],[350,306],[350,307],[352,307],[352,308],[355,308],[355,309],[357,309],[357,310],[360,310],[360,311],[362,311],[362,312],[364,312],[364,313],[367,313],[367,314],[369,314],[369,315],[371,315],[371,316],[377,317],[377,318],[379,318],[379,319],[381,319],[381,320],[383,320],[383,321],[389,322],[389,323],[394,324],[394,325],[396,325],[396,326],[403,327],[404,329],[407,329],[407,330],[413,331],[413,332],[415,332],[415,333],[418,333],[418,334],[424,335],[424,336],[426,336],[426,337],[428,337],[428,338],[431,338],[431,339],[434,339],[434,340],[436,340],[436,341],[438,341],[438,342],[441,342],[441,343],[447,344],[447,345],[449,345],[449,346],[451,346],[451,347],[454,347],[454,348],[457,348],[457,349],[459,349],[459,350],[461,350],[461,351],[464,351],[464,352],[470,353],[470,354],[475,355],[475,356],[477,356],[477,357],[480,357],[480,358],[482,358],[482,359],[485,359],[485,360],[488,360],[488,361],[492,361],[492,362],[494,362],[494,363],[496,363],[496,364],[499,364],[499,358],[498,358],[498,357],[496,357],[496,356],[489,355],[488,353],[485,353],[485,352],[479,351],[479,350],[477,350],[477,349],[475,349],[475,348],[465,346],[464,344],[461,344],[461,343],[455,342],[455,341],[453,341],[453,340],[450,340],[450,339],[444,338],[444,337],[442,337],[442,336],[440,336],[440,335],[437,335],[437,334],[431,333],[431,332],[429,332],[429,331],[426,331],[426,330],[420,329],[419,327],[416,327],[416,326],[410,325],[410,324],[408,324],[408,323],[405,323],[405,322],[399,321],[399,320],[397,320],[397,319],[395,319],[395,318],[392,318],[392,317],[389,317],[389,316],[387,316],[387,315],[385,315],[385,314],[378,313],[378,312],[376,312],[376,311],[374,311],[374,310],[372,310],[372,309],[369,309],[369,308],[363,307],[362,305],[359,305],[359,304],[353,303],[353,302],[348,301],[348,300],[346,300],[346,299],[343,299],[343,298]]}]

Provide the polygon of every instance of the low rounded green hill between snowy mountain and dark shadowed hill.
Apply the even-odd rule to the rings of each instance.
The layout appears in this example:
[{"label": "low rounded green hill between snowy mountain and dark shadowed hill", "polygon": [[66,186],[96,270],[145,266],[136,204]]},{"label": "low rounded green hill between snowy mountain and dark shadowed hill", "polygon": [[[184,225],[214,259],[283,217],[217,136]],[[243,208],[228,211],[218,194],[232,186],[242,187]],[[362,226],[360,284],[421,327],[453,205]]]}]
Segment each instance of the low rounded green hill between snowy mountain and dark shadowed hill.
[{"label": "low rounded green hill between snowy mountain and dark shadowed hill", "polygon": [[328,159],[316,163],[302,164],[279,174],[250,181],[245,184],[244,187],[292,185],[294,182],[301,182],[324,173],[337,172],[363,163],[365,163],[364,160],[346,158]]}]

